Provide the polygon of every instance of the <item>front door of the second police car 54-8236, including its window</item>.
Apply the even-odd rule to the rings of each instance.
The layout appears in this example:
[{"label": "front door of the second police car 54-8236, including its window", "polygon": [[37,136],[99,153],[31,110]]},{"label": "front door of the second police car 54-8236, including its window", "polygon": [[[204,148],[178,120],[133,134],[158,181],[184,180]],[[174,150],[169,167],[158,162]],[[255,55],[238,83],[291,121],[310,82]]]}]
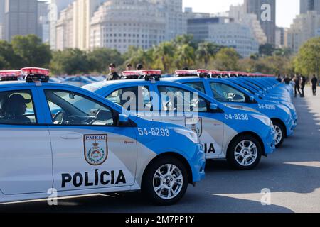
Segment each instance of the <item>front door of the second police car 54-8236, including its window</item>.
[{"label": "front door of the second police car 54-8236, including its window", "polygon": [[205,148],[206,158],[219,157],[223,152],[222,114],[211,112],[210,102],[198,96],[198,92],[194,94],[170,85],[157,84],[155,87],[159,93],[162,121],[195,131]]}]

